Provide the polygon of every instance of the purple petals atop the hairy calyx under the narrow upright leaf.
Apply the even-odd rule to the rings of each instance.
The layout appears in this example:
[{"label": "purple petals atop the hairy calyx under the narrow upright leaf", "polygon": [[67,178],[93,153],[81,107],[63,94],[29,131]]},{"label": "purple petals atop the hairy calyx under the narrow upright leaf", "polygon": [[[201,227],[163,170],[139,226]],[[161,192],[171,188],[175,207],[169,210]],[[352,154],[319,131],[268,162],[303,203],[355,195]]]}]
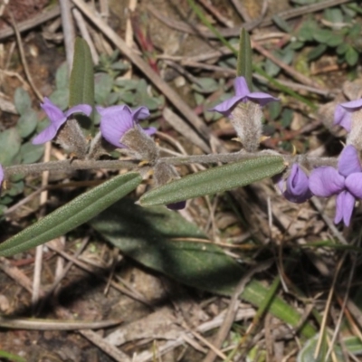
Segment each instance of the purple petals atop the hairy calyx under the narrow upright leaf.
[{"label": "purple petals atop the hairy calyx under the narrow upright leaf", "polygon": [[236,77],[235,81],[233,81],[233,88],[235,90],[235,95],[229,100],[224,100],[224,102],[215,106],[212,110],[216,110],[228,117],[232,112],[233,107],[239,102],[251,100],[264,106],[271,100],[278,100],[278,98],[272,97],[268,93],[262,93],[261,91],[251,92],[244,77]]}]

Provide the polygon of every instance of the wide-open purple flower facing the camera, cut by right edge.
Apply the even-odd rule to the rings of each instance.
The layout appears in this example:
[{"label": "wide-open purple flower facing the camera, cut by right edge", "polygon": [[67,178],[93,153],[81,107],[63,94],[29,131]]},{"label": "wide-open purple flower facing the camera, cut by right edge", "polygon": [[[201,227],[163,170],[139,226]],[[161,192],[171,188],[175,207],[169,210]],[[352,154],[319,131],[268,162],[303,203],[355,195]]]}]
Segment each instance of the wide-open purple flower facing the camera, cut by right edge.
[{"label": "wide-open purple flower facing the camera, cut by right edge", "polygon": [[310,191],[317,196],[337,195],[335,224],[349,225],[356,198],[362,199],[362,167],[357,149],[349,145],[338,159],[338,170],[319,167],[310,174]]}]

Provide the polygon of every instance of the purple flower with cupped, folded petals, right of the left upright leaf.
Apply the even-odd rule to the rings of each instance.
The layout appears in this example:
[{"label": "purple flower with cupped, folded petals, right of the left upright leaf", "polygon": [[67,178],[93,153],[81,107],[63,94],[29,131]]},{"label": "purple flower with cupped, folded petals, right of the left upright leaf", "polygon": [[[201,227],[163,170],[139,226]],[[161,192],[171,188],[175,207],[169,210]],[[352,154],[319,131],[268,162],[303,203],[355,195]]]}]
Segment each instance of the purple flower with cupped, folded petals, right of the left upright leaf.
[{"label": "purple flower with cupped, folded petals, right of the left upright leaf", "polygon": [[[131,110],[129,106],[111,106],[108,108],[96,107],[100,113],[100,132],[113,146],[117,148],[127,148],[120,141],[124,134],[135,127],[139,127],[138,119],[146,119],[149,110],[146,107],[138,107]],[[141,129],[139,127],[139,129]],[[143,129],[149,136],[153,135],[157,129],[150,127]]]}]

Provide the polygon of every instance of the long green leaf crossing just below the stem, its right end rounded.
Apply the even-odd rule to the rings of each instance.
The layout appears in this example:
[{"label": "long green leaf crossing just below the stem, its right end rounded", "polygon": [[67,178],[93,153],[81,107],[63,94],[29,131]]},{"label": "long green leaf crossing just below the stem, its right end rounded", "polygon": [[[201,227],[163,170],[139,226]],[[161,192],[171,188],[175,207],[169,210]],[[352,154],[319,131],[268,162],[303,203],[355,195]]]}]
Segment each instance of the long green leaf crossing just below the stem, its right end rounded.
[{"label": "long green leaf crossing just below the stem, its right end rounded", "polygon": [[285,168],[282,157],[262,156],[214,167],[159,186],[143,195],[140,205],[167,205],[189,198],[211,195],[281,173]]}]

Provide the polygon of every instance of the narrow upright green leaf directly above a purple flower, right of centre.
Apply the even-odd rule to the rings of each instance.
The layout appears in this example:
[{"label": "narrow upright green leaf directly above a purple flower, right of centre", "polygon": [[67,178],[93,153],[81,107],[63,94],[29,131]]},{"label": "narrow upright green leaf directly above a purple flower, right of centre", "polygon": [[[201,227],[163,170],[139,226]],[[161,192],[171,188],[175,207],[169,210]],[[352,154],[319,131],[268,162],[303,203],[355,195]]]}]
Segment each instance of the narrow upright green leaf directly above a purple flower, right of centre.
[{"label": "narrow upright green leaf directly above a purple flower, right of centre", "polygon": [[236,75],[243,76],[249,90],[252,91],[252,45],[249,33],[245,29],[240,32]]}]

